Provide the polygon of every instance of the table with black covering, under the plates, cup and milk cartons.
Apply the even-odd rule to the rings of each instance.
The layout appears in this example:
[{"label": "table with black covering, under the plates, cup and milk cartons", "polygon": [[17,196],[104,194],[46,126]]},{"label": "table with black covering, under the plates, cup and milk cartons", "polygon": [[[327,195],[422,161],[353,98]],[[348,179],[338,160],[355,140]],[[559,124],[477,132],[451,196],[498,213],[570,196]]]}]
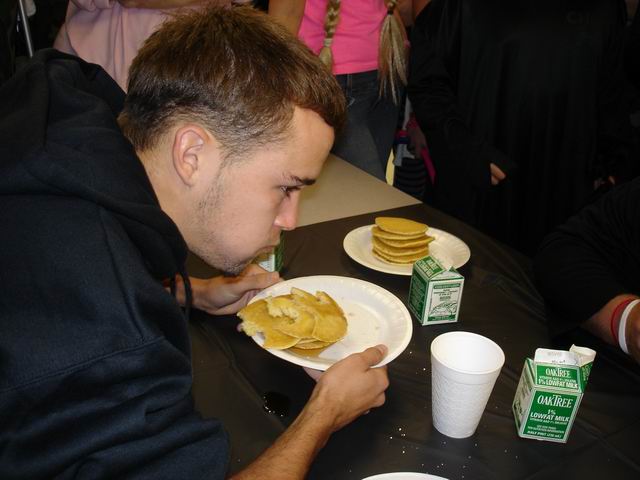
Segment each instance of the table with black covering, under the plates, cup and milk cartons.
[{"label": "table with black covering, under the plates, cup and milk cartons", "polygon": [[[472,256],[460,269],[465,289],[456,324],[414,323],[407,349],[389,365],[386,404],[334,434],[308,478],[362,479],[393,471],[416,471],[449,479],[640,478],[640,369],[587,334],[563,339],[598,351],[586,394],[567,444],[517,436],[511,403],[525,357],[554,346],[544,304],[536,292],[530,261],[473,228],[426,205],[384,212],[423,221],[463,239]],[[344,275],[376,283],[406,303],[409,277],[369,270],[342,250],[352,229],[376,213],[338,218],[285,235],[285,278]],[[236,331],[234,317],[195,312],[191,325],[194,397],[205,416],[222,418],[232,439],[230,470],[246,465],[300,411],[312,388],[301,368],[260,349]],[[450,439],[432,426],[429,344],[451,330],[485,335],[504,350],[506,361],[477,432]],[[263,409],[262,395],[290,400],[279,417]]]}]

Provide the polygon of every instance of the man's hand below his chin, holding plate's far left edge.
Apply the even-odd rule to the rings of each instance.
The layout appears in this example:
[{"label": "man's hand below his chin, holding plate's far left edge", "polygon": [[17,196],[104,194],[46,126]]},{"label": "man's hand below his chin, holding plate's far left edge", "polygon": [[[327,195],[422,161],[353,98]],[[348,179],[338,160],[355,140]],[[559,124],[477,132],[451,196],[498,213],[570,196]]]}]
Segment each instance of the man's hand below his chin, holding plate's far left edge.
[{"label": "man's hand below his chin, holding plate's far left edge", "polygon": [[[193,306],[211,315],[237,313],[260,290],[281,281],[278,272],[250,264],[237,277],[191,278]],[[178,284],[178,300],[184,302],[184,286]]]}]

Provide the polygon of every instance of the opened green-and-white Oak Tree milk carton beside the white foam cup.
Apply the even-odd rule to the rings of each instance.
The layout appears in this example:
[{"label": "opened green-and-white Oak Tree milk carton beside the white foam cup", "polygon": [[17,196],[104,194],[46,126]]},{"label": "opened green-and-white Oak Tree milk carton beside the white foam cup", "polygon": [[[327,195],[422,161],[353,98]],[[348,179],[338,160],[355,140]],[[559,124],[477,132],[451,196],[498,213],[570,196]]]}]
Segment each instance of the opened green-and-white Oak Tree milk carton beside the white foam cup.
[{"label": "opened green-and-white Oak Tree milk carton beside the white foam cup", "polygon": [[538,348],[524,362],[513,399],[518,435],[566,443],[596,352],[573,345],[567,352]]}]

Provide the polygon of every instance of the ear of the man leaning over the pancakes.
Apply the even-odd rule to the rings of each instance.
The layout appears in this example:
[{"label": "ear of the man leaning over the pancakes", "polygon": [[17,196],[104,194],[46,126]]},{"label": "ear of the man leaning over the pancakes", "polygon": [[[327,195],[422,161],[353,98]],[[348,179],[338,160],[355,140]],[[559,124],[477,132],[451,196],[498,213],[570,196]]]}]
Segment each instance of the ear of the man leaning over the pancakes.
[{"label": "ear of the man leaning over the pancakes", "polygon": [[[173,137],[173,168],[182,182],[192,187],[207,167],[205,153],[216,147],[211,135],[201,126],[186,124],[175,131]],[[210,152],[209,152],[210,153]],[[212,161],[207,155],[208,161]]]}]

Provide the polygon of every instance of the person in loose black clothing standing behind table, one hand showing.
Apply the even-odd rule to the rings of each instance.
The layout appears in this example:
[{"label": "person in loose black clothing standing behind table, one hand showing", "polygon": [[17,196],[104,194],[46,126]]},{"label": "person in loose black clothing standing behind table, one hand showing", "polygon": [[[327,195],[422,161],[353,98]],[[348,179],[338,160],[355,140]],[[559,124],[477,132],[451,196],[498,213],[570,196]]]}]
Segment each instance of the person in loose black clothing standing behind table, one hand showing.
[{"label": "person in loose black clothing standing behind table, one hand showing", "polygon": [[407,91],[435,206],[533,255],[596,185],[632,178],[625,21],[623,0],[429,3]]}]

